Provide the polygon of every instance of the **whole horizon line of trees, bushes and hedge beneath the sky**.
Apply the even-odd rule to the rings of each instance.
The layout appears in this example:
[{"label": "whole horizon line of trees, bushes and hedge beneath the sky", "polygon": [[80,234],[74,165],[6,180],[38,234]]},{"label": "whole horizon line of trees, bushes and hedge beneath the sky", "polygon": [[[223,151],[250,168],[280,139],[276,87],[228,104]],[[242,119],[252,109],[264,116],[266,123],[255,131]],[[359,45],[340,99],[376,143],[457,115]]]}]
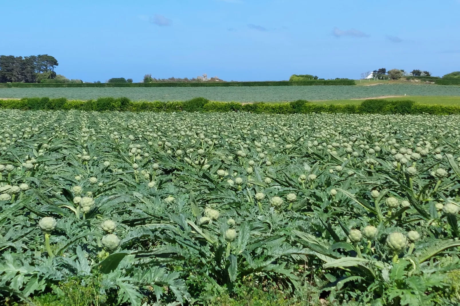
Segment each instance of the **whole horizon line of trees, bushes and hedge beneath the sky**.
[{"label": "whole horizon line of trees, bushes and hedge beneath the sky", "polygon": [[[5,87],[199,87],[199,86],[283,86],[283,85],[355,85],[352,79],[320,79],[311,74],[293,74],[289,81],[262,81],[262,82],[226,82],[217,77],[207,78],[168,78],[156,79],[151,74],[145,74],[140,83],[133,83],[132,79],[111,78],[106,83],[100,81],[83,82],[81,79],[67,79],[56,74],[54,69],[59,65],[57,59],[50,55],[31,55],[29,57],[15,57],[0,55],[0,88]],[[366,77],[370,72],[363,73]],[[414,69],[406,73],[403,69],[386,68],[373,71],[376,78],[388,79],[423,79],[438,85],[460,85],[460,72],[452,72],[442,78],[431,76],[430,72]],[[174,83],[177,83],[175,85]],[[294,84],[292,84],[294,83]],[[22,85],[24,84],[24,85]],[[29,85],[25,85],[29,84]],[[32,85],[34,84],[34,85]],[[141,85],[142,84],[142,85]]]}]

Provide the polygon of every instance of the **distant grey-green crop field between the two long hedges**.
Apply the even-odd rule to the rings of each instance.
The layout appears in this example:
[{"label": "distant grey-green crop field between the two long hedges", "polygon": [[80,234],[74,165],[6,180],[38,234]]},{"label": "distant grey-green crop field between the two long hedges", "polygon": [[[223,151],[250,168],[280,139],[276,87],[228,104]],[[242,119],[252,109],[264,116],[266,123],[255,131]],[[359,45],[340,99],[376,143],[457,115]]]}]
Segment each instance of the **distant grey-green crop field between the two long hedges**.
[{"label": "distant grey-green crop field between the two long hedges", "polygon": [[0,88],[0,98],[47,96],[96,99],[126,96],[132,100],[184,101],[203,96],[214,101],[280,102],[297,99],[345,100],[378,96],[460,96],[460,86],[388,84],[376,86],[260,86],[152,88]]}]

